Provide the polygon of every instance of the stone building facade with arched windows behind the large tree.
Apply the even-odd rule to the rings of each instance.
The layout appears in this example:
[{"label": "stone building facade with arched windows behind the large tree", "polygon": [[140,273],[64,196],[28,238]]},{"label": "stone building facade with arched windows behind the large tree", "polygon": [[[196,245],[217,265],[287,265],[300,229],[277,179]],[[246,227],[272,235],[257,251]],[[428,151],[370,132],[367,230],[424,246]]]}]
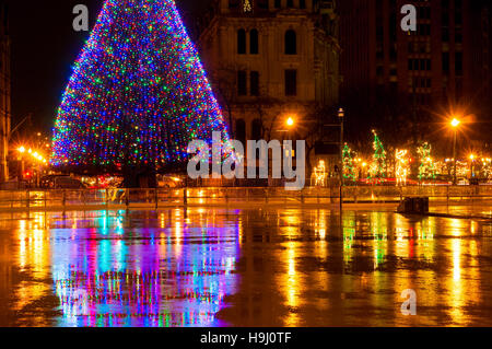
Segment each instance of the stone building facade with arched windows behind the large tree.
[{"label": "stone building facade with arched windows behind the large tree", "polygon": [[216,0],[204,22],[200,54],[235,139],[304,139],[338,103],[335,1]]}]

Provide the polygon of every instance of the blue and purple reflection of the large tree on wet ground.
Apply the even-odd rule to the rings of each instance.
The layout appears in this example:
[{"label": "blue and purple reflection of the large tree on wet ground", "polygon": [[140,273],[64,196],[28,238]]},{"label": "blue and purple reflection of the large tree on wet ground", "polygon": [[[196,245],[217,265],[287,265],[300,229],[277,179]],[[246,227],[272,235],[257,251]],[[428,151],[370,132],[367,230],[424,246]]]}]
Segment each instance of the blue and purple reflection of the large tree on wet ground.
[{"label": "blue and purple reflection of the large tree on wet ground", "polygon": [[[201,244],[183,244],[179,239],[179,254],[172,248],[176,243],[176,232],[172,229],[132,230],[128,244],[120,237],[120,229],[125,235],[122,218],[112,214],[94,217],[96,222],[101,220],[97,229],[79,226],[75,240],[55,236],[52,275],[63,311],[62,324],[207,326],[215,323],[215,314],[223,306],[225,295],[233,292],[237,278],[233,270],[239,246],[235,241],[238,226],[236,223],[233,230],[218,228],[214,216],[204,217],[203,229],[197,230],[183,223],[183,210],[174,211],[173,225],[179,226],[181,236],[207,233]],[[196,219],[191,222],[197,222]],[[65,234],[60,232],[60,236]],[[221,247],[212,248],[209,241],[220,242]],[[87,292],[85,311],[77,306],[77,290]],[[86,314],[80,316],[80,312]]]}]

